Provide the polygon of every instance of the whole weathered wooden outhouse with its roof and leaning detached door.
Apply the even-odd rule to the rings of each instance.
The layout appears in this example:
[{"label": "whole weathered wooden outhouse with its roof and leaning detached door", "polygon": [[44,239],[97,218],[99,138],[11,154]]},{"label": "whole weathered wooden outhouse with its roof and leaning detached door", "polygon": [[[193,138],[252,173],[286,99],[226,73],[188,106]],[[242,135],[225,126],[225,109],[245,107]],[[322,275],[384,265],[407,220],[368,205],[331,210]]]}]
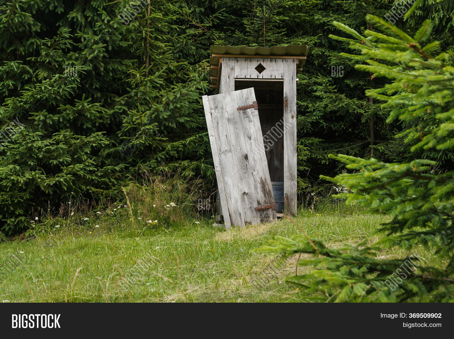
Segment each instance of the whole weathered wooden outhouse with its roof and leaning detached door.
[{"label": "whole weathered wooden outhouse with its roof and leaning detached door", "polygon": [[296,74],[308,49],[210,47],[218,94],[203,106],[227,228],[296,215]]}]

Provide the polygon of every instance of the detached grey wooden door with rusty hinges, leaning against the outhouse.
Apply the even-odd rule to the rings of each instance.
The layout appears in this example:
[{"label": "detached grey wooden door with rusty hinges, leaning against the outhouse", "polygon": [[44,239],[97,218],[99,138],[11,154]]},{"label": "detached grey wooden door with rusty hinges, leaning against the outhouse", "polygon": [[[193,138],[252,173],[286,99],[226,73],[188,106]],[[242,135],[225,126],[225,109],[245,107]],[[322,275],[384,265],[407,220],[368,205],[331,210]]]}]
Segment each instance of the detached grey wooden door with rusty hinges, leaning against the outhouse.
[{"label": "detached grey wooden door with rusty hinges, leaning against the outhouse", "polygon": [[202,99],[225,226],[276,220],[254,88]]}]

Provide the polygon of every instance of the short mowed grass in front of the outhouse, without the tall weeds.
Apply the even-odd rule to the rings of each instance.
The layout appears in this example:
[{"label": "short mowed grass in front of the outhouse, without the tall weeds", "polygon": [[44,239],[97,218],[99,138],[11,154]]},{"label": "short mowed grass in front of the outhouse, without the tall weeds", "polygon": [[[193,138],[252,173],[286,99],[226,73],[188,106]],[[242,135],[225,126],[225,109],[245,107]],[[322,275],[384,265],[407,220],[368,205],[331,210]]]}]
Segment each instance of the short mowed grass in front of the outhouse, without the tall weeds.
[{"label": "short mowed grass in front of the outhouse, without the tall weeds", "polygon": [[[125,209],[126,210],[126,209]],[[317,214],[318,213],[318,214]],[[277,255],[253,250],[275,236],[300,233],[332,246],[357,243],[389,221],[387,216],[358,210],[313,213],[301,209],[293,220],[223,230],[205,219],[167,228],[105,221],[83,230],[68,227],[26,241],[0,244],[0,260],[22,251],[25,260],[1,276],[0,300],[10,302],[292,302],[306,301],[304,293],[285,282],[301,274],[294,255],[262,289],[251,284],[263,276]],[[92,232],[92,233],[90,233]],[[79,234],[80,233],[80,234]],[[50,245],[52,244],[52,246]],[[151,253],[156,260],[147,259]],[[385,253],[384,255],[395,255]],[[122,289],[119,281],[138,260],[148,260],[138,281]]]}]

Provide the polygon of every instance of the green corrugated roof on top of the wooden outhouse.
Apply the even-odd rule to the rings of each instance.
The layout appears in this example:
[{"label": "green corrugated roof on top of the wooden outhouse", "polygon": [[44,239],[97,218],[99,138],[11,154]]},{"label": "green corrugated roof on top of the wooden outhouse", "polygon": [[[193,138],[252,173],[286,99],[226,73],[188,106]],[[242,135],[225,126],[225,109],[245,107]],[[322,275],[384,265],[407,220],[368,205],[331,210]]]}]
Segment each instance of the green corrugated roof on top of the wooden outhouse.
[{"label": "green corrugated roof on top of the wooden outhouse", "polygon": [[[219,57],[213,57],[213,54],[228,54],[228,55],[257,55],[258,58],[266,56],[291,56],[298,57],[298,68],[301,68],[306,62],[306,56],[309,51],[307,45],[287,45],[287,46],[273,46],[273,47],[248,47],[248,46],[210,46],[210,66],[219,65]],[[217,77],[218,69],[210,67],[210,76]],[[210,80],[210,84],[214,84]]]}]

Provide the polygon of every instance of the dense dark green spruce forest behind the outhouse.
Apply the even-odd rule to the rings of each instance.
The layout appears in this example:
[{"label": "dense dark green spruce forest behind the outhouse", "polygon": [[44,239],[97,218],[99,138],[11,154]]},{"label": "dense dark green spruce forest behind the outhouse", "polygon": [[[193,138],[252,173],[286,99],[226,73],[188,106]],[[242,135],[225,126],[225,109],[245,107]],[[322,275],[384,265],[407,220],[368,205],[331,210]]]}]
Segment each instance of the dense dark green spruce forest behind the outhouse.
[{"label": "dense dark green spruce forest behind the outhouse", "polygon": [[[77,197],[115,199],[145,172],[201,178],[210,194],[215,174],[201,97],[214,93],[211,44],[310,47],[297,84],[300,203],[330,191],[319,179],[341,171],[330,153],[452,167],[452,153],[415,155],[395,138],[406,126],[385,123],[387,108],[365,97],[387,80],[356,70],[341,55],[351,52],[348,44],[329,38],[344,34],[333,21],[374,30],[365,16],[385,17],[400,2],[2,1],[1,231],[22,231],[33,211],[58,211]],[[454,3],[407,2],[415,4],[395,25],[414,34],[430,19],[440,48],[452,51]]]}]

